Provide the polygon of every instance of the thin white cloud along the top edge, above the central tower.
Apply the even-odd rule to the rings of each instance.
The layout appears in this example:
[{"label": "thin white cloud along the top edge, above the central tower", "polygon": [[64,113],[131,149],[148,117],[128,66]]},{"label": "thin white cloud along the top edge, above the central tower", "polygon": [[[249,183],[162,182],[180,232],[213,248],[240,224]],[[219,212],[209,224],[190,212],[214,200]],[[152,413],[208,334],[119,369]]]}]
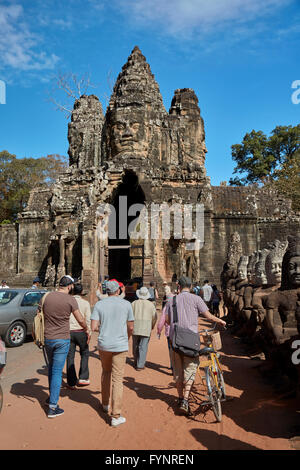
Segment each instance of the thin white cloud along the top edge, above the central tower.
[{"label": "thin white cloud along the top edge, above the central tower", "polygon": [[169,34],[206,33],[263,17],[292,0],[115,0],[128,20]]}]

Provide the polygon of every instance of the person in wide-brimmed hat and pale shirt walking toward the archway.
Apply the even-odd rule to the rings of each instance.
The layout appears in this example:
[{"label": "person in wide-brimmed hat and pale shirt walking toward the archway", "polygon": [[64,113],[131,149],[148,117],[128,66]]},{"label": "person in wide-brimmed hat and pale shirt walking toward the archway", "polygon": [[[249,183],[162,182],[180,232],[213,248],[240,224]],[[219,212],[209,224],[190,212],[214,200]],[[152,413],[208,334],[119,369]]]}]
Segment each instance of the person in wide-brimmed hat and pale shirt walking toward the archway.
[{"label": "person in wide-brimmed hat and pale shirt walking toward the archway", "polygon": [[147,287],[136,291],[138,300],[132,303],[134,315],[134,329],[132,335],[132,349],[134,366],[136,370],[145,368],[151,331],[153,330],[157,315],[153,302],[150,302],[150,292]]}]

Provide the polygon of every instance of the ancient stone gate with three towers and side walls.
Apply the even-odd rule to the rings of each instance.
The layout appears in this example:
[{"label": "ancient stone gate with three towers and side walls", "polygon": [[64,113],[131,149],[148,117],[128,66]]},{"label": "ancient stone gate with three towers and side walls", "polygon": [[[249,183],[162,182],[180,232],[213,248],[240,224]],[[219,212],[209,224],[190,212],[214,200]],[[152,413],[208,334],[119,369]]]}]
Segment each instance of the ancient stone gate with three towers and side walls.
[{"label": "ancient stone gate with three towers and side walls", "polygon": [[[105,115],[94,95],[75,102],[68,140],[69,168],[51,190],[31,192],[16,226],[0,229],[2,252],[9,247],[10,253],[0,273],[11,285],[28,286],[39,274],[50,287],[64,273],[80,277],[91,292],[105,274],[123,282],[171,282],[182,274],[218,282],[232,233],[240,233],[244,253],[251,253],[272,241],[274,231],[283,240],[299,226],[289,201],[275,193],[211,186],[195,92],[176,90],[167,112],[138,47],[117,78]],[[161,232],[154,239],[130,237],[127,227],[138,214],[126,213],[126,230],[120,227],[125,197],[128,207],[147,210],[153,203],[203,204],[204,239],[163,238]],[[103,239],[99,226],[111,217],[105,204],[115,209],[116,230]]]}]

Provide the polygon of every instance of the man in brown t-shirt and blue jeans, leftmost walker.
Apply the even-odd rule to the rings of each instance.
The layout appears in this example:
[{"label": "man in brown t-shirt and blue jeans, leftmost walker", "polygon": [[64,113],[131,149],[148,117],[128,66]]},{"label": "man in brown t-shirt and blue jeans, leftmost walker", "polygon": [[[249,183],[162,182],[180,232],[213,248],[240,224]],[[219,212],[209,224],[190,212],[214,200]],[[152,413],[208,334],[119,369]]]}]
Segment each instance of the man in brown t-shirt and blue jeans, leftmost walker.
[{"label": "man in brown t-shirt and blue jeans, leftmost walker", "polygon": [[[50,396],[48,418],[55,418],[64,413],[59,408],[58,400],[62,383],[62,371],[70,347],[70,315],[73,313],[82,330],[87,333],[87,324],[81,315],[76,299],[70,295],[74,287],[71,276],[63,276],[58,290],[45,295],[43,312],[45,320],[45,350],[49,362],[48,381]],[[42,308],[42,301],[39,309]]]}]

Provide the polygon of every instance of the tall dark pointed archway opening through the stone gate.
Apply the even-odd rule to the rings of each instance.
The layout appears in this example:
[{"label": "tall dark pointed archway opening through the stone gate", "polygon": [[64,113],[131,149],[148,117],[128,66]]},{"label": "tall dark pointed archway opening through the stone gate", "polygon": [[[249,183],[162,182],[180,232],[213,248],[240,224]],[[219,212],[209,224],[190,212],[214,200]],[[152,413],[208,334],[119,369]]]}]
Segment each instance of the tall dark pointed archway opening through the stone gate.
[{"label": "tall dark pointed archway opening through the stone gate", "polygon": [[[108,275],[126,283],[132,278],[132,244],[128,226],[139,216],[139,211],[128,216],[128,210],[134,204],[144,204],[145,194],[137,175],[126,170],[122,182],[112,198],[115,214],[110,217],[108,235]],[[140,250],[143,252],[143,250]],[[143,264],[143,255],[142,255]]]}]

